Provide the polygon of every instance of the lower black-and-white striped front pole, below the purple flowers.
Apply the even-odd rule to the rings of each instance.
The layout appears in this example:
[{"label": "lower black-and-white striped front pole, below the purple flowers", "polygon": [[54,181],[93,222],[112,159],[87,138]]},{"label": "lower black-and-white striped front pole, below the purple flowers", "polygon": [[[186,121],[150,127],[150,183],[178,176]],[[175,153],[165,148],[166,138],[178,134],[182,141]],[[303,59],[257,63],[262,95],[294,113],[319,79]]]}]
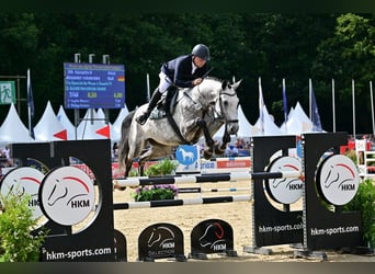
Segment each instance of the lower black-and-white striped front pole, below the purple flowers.
[{"label": "lower black-and-white striped front pole, below the purple flowers", "polygon": [[202,204],[218,204],[232,202],[250,202],[252,195],[236,195],[236,196],[220,196],[220,197],[197,197],[184,199],[161,199],[148,202],[128,202],[113,205],[113,209],[133,209],[133,208],[149,208],[149,207],[164,207],[164,206],[183,206],[183,205],[202,205]]}]

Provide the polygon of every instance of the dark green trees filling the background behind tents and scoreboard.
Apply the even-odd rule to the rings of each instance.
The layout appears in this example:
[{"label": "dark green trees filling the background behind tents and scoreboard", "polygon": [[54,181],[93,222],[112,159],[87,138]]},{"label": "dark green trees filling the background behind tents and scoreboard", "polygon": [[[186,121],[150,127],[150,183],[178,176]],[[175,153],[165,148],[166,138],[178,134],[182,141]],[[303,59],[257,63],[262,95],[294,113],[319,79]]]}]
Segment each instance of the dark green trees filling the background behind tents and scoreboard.
[{"label": "dark green trees filling the background behind tents and scoreboard", "polygon": [[[192,23],[194,22],[194,23]],[[293,34],[293,35],[291,35]],[[243,79],[238,95],[247,118],[258,118],[258,76],[266,105],[281,100],[282,78],[286,79],[291,105],[308,106],[307,79],[314,81],[321,122],[331,125],[331,79],[336,79],[340,100],[339,130],[350,130],[351,84],[355,79],[361,133],[371,128],[368,80],[374,69],[373,14],[280,14],[280,13],[7,13],[0,18],[0,71],[25,76],[32,70],[35,121],[47,101],[57,110],[64,102],[63,64],[81,54],[88,61],[95,54],[109,54],[112,64],[126,66],[126,105],[145,103],[145,76],[157,87],[160,65],[188,54],[196,43],[211,48],[214,77]],[[82,39],[82,37],[84,37]],[[291,58],[286,58],[291,57]],[[152,89],[154,89],[152,88]],[[26,107],[26,81],[20,81],[20,107]],[[275,123],[284,122],[281,104],[271,106]],[[361,113],[362,112],[362,113]],[[329,115],[327,115],[329,113]],[[7,112],[0,113],[0,121]],[[110,113],[114,121],[116,111]],[[325,115],[326,114],[326,115]],[[67,115],[73,119],[73,113]],[[20,112],[22,121],[26,112]],[[341,128],[342,127],[342,128]],[[363,128],[364,129],[363,129]]]}]

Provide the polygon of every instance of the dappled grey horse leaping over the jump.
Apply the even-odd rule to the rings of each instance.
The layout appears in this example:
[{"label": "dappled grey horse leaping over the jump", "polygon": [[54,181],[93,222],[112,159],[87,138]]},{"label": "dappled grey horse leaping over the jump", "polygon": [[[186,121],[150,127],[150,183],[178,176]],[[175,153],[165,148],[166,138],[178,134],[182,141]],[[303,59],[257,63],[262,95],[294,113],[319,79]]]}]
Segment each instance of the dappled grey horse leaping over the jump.
[{"label": "dappled grey horse leaping over the jump", "polygon": [[[228,83],[205,78],[201,84],[178,92],[170,117],[169,111],[166,111],[167,116],[149,118],[143,126],[135,118],[146,110],[147,104],[130,112],[123,121],[118,144],[118,163],[121,169],[125,168],[125,176],[128,176],[135,158],[138,158],[143,175],[146,161],[170,156],[173,147],[196,144],[202,136],[207,146],[204,153],[206,159],[211,158],[214,149],[223,152],[230,141],[230,135],[238,132],[239,99],[236,89],[240,82]],[[223,144],[215,145],[212,136],[224,124]]]}]

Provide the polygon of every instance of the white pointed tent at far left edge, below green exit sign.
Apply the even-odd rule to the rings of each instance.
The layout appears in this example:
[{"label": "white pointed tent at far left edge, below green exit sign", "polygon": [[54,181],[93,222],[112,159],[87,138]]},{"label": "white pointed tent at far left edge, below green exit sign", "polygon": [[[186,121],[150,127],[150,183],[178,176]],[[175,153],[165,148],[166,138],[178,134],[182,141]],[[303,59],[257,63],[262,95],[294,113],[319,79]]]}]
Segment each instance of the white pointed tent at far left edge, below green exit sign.
[{"label": "white pointed tent at far left edge, below green exit sign", "polygon": [[14,104],[10,105],[8,115],[0,127],[0,141],[2,142],[31,142],[29,129],[22,123]]}]

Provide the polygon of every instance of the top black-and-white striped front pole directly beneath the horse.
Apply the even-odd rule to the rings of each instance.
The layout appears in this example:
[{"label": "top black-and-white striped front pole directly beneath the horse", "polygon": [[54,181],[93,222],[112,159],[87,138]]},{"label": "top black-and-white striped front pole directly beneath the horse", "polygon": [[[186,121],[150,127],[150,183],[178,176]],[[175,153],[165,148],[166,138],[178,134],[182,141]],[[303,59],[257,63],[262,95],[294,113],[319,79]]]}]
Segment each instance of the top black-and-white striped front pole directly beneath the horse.
[{"label": "top black-and-white striped front pole directly beneath the horse", "polygon": [[178,184],[178,183],[216,183],[229,181],[266,180],[281,178],[300,178],[299,171],[282,172],[231,172],[204,175],[181,175],[181,176],[155,176],[155,178],[124,178],[113,180],[113,184],[120,187],[139,186],[152,184]]}]

